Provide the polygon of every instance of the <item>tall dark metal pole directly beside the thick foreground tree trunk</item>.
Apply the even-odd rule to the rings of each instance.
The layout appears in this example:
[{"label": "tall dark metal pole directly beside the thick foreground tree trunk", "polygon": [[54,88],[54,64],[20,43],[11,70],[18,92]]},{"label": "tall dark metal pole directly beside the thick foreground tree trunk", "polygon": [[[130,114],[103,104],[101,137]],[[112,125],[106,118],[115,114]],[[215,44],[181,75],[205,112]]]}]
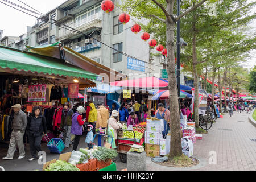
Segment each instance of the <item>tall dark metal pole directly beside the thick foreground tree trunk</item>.
[{"label": "tall dark metal pole directly beside the thick foreground tree trunk", "polygon": [[[180,15],[180,0],[177,0],[177,16]],[[177,92],[180,99],[180,20],[177,21]]]}]

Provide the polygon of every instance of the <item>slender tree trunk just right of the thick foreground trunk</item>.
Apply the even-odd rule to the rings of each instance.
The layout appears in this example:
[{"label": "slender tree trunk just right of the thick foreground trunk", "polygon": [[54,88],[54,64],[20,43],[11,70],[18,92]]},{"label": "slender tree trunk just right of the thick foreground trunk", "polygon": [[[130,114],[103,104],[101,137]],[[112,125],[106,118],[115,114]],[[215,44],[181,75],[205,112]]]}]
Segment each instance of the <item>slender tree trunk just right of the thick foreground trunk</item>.
[{"label": "slender tree trunk just right of the thick foreground trunk", "polygon": [[196,127],[199,127],[199,114],[198,114],[198,94],[199,94],[199,88],[198,88],[198,74],[197,74],[197,68],[196,68],[196,16],[195,13],[193,15],[193,22],[192,22],[192,34],[193,34],[193,76],[194,76],[194,88],[195,88],[195,100],[194,100],[194,111],[193,111],[193,117],[195,118]]}]

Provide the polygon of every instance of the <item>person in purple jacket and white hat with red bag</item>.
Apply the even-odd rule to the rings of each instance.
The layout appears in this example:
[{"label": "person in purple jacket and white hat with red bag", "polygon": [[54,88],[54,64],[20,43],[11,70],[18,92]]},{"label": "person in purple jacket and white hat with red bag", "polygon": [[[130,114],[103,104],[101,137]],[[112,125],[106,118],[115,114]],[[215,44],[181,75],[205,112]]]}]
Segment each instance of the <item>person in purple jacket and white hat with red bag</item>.
[{"label": "person in purple jacket and white hat with red bag", "polygon": [[82,121],[81,115],[85,113],[85,109],[82,106],[77,107],[76,113],[72,115],[72,126],[71,133],[75,135],[73,150],[76,151],[77,146],[79,144],[80,136],[82,135],[82,131],[84,130],[84,121]]}]

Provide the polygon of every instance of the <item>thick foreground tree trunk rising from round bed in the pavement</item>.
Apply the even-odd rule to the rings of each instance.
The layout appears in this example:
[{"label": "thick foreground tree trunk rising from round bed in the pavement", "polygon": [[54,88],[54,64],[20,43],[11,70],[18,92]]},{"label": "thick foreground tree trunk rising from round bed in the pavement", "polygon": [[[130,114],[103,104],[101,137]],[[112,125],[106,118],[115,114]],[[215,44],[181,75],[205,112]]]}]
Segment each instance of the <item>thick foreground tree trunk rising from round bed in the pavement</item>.
[{"label": "thick foreground tree trunk rising from round bed in the pavement", "polygon": [[[174,1],[167,3],[168,14],[173,14]],[[171,112],[171,147],[169,157],[181,156],[181,138],[180,138],[180,111],[179,100],[177,97],[177,81],[175,75],[175,52],[174,52],[174,30],[175,23],[171,23],[166,19],[166,47],[168,59],[168,81],[169,81],[169,103]]]}]

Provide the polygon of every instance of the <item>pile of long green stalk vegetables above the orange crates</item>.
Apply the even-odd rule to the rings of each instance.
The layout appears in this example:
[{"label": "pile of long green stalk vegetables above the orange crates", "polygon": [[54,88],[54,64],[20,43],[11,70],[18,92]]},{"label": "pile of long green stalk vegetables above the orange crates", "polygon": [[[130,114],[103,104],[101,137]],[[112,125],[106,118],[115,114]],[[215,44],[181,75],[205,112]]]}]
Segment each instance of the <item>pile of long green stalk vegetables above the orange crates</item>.
[{"label": "pile of long green stalk vegetables above the orange crates", "polygon": [[95,146],[92,150],[92,155],[97,160],[113,159],[117,156],[117,151],[112,148]]}]

